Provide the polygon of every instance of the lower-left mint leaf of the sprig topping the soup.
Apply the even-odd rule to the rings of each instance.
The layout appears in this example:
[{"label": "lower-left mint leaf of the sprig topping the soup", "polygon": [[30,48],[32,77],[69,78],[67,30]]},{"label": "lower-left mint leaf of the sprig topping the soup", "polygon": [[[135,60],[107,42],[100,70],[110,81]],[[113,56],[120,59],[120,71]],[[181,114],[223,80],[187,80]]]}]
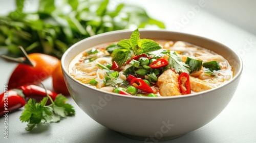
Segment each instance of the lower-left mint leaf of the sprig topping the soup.
[{"label": "lower-left mint leaf of the sprig topping the soup", "polygon": [[126,49],[116,49],[112,53],[112,61],[116,61],[119,67],[121,67],[127,60],[131,59],[133,52]]}]

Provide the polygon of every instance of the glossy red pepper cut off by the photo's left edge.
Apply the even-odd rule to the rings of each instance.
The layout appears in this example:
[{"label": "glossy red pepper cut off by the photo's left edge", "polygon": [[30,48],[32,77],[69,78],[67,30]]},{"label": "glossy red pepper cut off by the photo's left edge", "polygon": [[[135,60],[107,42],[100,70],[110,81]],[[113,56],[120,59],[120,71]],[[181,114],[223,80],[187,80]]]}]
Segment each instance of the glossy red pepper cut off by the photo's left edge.
[{"label": "glossy red pepper cut off by the photo's left edge", "polygon": [[[7,90],[0,95],[0,116],[5,114],[5,111],[11,112],[26,104],[22,96],[19,96],[15,90]],[[8,113],[7,112],[7,113]]]}]

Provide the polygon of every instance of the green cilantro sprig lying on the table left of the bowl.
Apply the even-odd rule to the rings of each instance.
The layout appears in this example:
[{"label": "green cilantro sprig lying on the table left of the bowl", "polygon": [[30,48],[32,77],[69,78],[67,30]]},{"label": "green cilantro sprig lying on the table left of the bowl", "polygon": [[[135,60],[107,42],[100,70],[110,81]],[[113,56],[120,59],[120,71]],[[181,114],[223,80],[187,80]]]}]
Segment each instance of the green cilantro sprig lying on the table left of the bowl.
[{"label": "green cilantro sprig lying on the table left of the bowl", "polygon": [[[46,105],[48,100],[51,101],[50,105]],[[58,94],[54,101],[48,94],[39,103],[36,103],[35,99],[29,99],[25,104],[25,110],[19,117],[20,121],[28,122],[28,126],[25,129],[30,131],[37,124],[59,122],[67,116],[74,116],[75,110],[73,106],[65,103],[66,101],[67,98],[62,94]]]}]

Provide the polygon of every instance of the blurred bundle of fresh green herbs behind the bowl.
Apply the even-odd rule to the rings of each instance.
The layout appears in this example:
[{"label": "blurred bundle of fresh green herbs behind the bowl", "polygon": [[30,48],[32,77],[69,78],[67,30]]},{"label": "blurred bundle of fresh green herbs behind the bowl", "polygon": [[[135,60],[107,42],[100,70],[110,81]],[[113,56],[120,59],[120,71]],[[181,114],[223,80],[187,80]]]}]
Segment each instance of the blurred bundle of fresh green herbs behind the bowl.
[{"label": "blurred bundle of fresh green herbs behind the bowl", "polygon": [[56,6],[54,0],[40,0],[37,12],[25,13],[25,0],[16,0],[17,9],[0,17],[0,47],[16,56],[20,56],[17,46],[22,45],[28,54],[61,58],[69,46],[95,34],[131,26],[164,28],[140,7],[121,3],[113,7],[109,0],[60,2]]}]

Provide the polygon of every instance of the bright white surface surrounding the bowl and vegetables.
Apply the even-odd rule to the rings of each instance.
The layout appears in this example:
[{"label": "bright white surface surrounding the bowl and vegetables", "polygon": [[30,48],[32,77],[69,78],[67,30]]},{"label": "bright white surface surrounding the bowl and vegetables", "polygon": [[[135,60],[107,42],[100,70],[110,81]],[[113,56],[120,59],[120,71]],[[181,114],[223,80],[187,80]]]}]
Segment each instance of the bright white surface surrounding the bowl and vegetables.
[{"label": "bright white surface surrounding the bowl and vegetables", "polygon": [[[191,14],[191,7],[198,5],[201,1],[133,0],[129,2],[144,7],[150,16],[164,21],[168,30],[204,36],[231,47],[241,56],[244,63],[243,74],[236,93],[227,107],[214,120],[179,138],[162,142],[256,142],[255,25],[254,29],[248,30],[250,23],[255,21],[243,21],[244,25],[241,25],[241,22],[234,22],[239,21],[238,17],[232,20],[225,18],[234,16],[232,11],[223,13],[223,17],[220,14],[215,14],[212,9],[218,5],[211,1],[205,1],[205,6],[200,7],[197,13],[194,12],[195,15],[190,15],[189,21],[182,21],[182,18],[184,20],[183,15]],[[124,1],[112,1],[113,4],[121,2]],[[232,3],[232,6],[234,5],[233,1],[228,2]],[[255,4],[249,0],[246,2],[248,2],[248,8],[251,7],[250,3]],[[12,10],[13,7],[12,1],[0,0],[0,13],[7,13],[7,10]],[[239,8],[239,5],[237,7]],[[244,9],[237,10],[244,10],[246,13],[248,10],[246,8],[244,6]],[[33,7],[28,6],[27,9],[33,9]],[[256,11],[252,10],[244,16],[250,20],[255,19],[255,14]],[[177,28],[177,23],[182,24],[182,27]],[[0,49],[0,54],[4,53],[5,51]],[[16,65],[0,59],[1,93]],[[48,89],[52,89],[51,79],[44,83]],[[0,117],[0,142],[144,142],[124,137],[101,126],[84,113],[71,97],[68,99],[68,103],[75,107],[76,115],[74,117],[68,117],[60,123],[41,125],[40,129],[31,132],[25,130],[26,123],[19,121],[23,108],[10,113],[8,115],[8,139],[4,138],[5,118]]]}]

